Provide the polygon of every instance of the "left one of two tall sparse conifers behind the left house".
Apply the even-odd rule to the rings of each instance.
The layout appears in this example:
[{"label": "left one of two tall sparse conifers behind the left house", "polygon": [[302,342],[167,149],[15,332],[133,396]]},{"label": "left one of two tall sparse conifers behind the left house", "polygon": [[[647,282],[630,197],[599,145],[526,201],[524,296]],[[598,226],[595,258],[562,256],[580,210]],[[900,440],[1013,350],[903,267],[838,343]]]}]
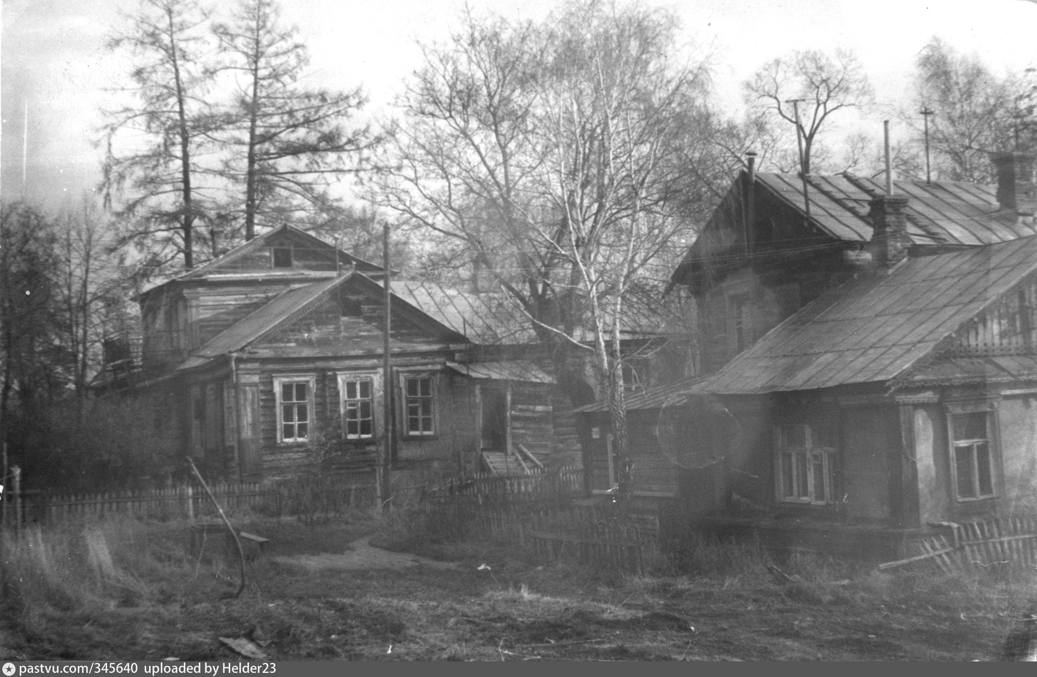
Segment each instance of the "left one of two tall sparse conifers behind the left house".
[{"label": "left one of two tall sparse conifers behind the left house", "polygon": [[153,274],[183,255],[194,267],[194,224],[203,217],[197,154],[211,77],[203,65],[208,11],[195,0],[141,0],[133,26],[109,42],[133,58],[136,102],[104,111],[102,188],[121,217],[120,244],[134,243]]}]

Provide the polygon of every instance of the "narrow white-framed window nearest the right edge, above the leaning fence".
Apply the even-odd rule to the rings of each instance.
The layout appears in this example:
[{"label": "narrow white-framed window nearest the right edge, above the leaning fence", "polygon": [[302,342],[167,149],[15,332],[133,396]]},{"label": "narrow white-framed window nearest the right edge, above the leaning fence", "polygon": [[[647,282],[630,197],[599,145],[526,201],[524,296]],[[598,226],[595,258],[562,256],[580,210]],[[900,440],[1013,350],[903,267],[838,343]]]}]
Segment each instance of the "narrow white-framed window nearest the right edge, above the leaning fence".
[{"label": "narrow white-framed window nearest the right edge, above the leaning fence", "polygon": [[994,459],[990,435],[992,412],[952,411],[949,413],[951,436],[951,472],[958,500],[988,498],[994,495]]}]

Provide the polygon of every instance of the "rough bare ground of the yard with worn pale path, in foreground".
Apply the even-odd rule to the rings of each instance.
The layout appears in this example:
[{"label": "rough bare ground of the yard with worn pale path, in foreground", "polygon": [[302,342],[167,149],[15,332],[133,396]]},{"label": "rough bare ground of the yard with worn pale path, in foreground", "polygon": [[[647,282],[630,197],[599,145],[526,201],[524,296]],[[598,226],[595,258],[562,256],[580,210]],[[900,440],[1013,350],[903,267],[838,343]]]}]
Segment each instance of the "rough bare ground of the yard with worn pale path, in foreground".
[{"label": "rough bare ground of the yard with worn pale path, in foreground", "polygon": [[1024,596],[1018,583],[905,595],[864,573],[832,595],[762,571],[638,578],[482,544],[444,563],[373,547],[364,531],[283,532],[239,599],[224,598],[236,580],[220,562],[150,596],[65,610],[8,598],[0,657],[233,660],[219,638],[252,633],[279,660],[989,660]]}]

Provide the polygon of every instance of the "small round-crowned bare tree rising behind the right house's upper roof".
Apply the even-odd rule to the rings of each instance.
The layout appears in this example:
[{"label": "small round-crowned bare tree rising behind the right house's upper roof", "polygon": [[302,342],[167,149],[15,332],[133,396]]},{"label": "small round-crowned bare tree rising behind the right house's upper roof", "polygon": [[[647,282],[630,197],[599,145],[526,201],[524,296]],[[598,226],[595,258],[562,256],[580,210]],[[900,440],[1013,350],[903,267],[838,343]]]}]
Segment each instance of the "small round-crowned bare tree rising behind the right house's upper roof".
[{"label": "small round-crowned bare tree rising behind the right house's upper roof", "polygon": [[[804,173],[811,171],[812,152],[825,120],[836,111],[867,106],[874,97],[861,62],[846,50],[836,50],[834,56],[817,50],[792,52],[768,61],[744,87],[750,104],[798,125]],[[793,100],[803,102],[798,121],[789,103]]]}]

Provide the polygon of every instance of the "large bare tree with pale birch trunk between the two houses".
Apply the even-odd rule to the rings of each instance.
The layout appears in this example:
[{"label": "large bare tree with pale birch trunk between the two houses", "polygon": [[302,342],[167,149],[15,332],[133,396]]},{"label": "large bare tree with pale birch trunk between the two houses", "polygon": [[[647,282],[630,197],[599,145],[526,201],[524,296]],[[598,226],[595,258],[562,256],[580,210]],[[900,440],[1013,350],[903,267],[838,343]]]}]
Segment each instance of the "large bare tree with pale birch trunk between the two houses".
[{"label": "large bare tree with pale birch trunk between the two houses", "polygon": [[[654,262],[691,233],[708,142],[708,72],[671,58],[673,15],[570,2],[540,24],[467,13],[425,66],[391,135],[375,199],[456,243],[545,342],[583,352],[627,462],[620,338]],[[696,187],[701,194],[707,189]]]}]

